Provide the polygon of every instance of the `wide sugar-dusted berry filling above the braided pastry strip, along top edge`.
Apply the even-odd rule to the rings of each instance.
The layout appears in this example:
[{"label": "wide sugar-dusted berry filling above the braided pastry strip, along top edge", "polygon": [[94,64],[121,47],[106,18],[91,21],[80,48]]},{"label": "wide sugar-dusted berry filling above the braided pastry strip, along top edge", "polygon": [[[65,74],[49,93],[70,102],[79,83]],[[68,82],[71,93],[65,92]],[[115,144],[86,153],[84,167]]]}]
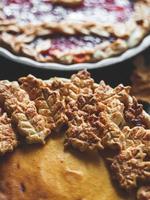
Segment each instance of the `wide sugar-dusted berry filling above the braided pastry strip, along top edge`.
[{"label": "wide sugar-dusted berry filling above the braided pastry strip, along top edge", "polygon": [[21,23],[124,22],[133,11],[129,0],[84,0],[78,6],[55,4],[50,0],[2,0],[2,5],[6,18]]}]

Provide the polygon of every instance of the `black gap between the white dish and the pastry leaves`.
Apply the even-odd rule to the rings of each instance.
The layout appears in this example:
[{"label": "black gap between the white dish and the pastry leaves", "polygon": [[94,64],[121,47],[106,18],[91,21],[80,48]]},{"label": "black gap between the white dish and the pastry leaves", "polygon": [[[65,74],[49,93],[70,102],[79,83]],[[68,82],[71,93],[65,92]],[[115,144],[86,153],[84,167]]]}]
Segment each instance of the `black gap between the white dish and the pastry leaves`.
[{"label": "black gap between the white dish and the pastry leaves", "polygon": [[[146,58],[149,58],[150,48],[145,50],[142,54],[144,54]],[[130,84],[130,76],[134,69],[133,59],[134,58],[113,66],[89,71],[91,72],[92,77],[95,79],[96,82],[104,80],[111,86],[115,86],[119,83],[127,85]],[[33,74],[36,77],[42,79],[49,79],[50,77],[54,76],[69,78],[71,74],[75,72],[36,69],[22,64],[14,63],[10,60],[6,60],[3,57],[0,57],[0,67],[0,79],[8,80],[17,80],[20,76],[25,76],[28,74]]]}]

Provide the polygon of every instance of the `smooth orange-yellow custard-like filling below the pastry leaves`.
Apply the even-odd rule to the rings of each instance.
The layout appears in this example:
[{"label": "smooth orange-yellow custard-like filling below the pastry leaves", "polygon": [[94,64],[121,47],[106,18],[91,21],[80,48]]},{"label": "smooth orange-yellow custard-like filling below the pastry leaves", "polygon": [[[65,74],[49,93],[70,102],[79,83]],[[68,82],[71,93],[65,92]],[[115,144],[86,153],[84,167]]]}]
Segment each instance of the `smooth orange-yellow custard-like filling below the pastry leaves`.
[{"label": "smooth orange-yellow custard-like filling below the pastry leaves", "polygon": [[[59,133],[62,135],[62,133]],[[18,148],[0,165],[1,200],[124,200],[98,153],[64,151],[64,138]]]}]

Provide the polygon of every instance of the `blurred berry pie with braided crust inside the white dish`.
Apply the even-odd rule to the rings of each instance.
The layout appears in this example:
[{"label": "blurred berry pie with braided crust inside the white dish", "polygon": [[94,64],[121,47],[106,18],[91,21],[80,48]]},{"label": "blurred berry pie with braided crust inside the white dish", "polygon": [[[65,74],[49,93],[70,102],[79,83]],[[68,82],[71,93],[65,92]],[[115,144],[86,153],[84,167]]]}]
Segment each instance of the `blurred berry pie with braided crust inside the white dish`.
[{"label": "blurred berry pie with braided crust inside the white dish", "polygon": [[118,55],[150,32],[150,0],[3,0],[0,46],[39,62]]}]

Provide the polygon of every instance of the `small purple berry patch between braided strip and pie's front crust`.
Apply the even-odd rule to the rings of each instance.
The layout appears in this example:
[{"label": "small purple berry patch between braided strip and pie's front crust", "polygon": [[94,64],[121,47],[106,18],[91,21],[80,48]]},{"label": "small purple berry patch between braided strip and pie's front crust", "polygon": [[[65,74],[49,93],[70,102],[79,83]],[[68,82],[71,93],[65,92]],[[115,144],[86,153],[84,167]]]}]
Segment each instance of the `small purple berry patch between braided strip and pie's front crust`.
[{"label": "small purple berry patch between braided strip and pie's front crust", "polygon": [[[78,52],[87,52],[90,53],[91,49],[98,48],[98,46],[104,42],[109,40],[112,42],[115,40],[114,37],[104,38],[98,36],[60,36],[56,35],[51,37],[51,40],[42,40],[36,39],[33,42],[34,48],[36,46],[41,45],[41,51],[39,53],[44,57],[55,56],[55,55],[62,55],[62,54],[70,54],[73,52],[78,55]],[[44,47],[45,44],[45,47]],[[79,56],[77,56],[79,57]],[[80,56],[80,58],[84,59],[84,53]],[[78,62],[80,62],[80,58]],[[76,60],[77,61],[77,60]]]}]

